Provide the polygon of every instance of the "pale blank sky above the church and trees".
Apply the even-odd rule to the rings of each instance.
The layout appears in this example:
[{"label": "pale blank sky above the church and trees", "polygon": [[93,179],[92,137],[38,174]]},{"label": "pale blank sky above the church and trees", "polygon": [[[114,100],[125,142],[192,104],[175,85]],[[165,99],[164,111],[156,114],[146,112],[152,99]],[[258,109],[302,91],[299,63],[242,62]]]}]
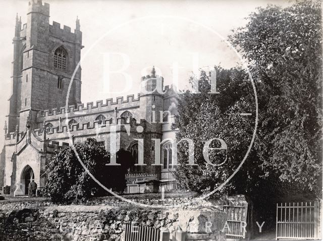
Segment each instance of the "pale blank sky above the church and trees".
[{"label": "pale blank sky above the church and trees", "polygon": [[[141,76],[152,65],[164,77],[164,85],[175,80],[179,89],[185,89],[197,67],[208,69],[220,64],[231,68],[241,64],[223,39],[232,29],[244,26],[245,18],[257,7],[292,4],[289,0],[42,2],[50,4],[50,24],[59,22],[61,28],[67,25],[74,31],[76,17],[80,19],[83,103],[136,95]],[[0,4],[5,13],[0,15],[0,136],[4,136],[15,17],[18,13],[22,24],[26,23],[28,1],[0,0]],[[0,147],[3,140],[0,138]]]}]

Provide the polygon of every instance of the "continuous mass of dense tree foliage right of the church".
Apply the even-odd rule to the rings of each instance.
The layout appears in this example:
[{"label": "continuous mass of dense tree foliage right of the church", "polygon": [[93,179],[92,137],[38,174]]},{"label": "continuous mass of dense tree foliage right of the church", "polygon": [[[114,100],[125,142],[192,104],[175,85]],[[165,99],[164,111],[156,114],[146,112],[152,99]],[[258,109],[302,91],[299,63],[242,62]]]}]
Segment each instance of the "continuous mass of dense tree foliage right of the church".
[{"label": "continuous mass of dense tree foliage right of the church", "polygon": [[[321,9],[316,2],[288,8],[259,8],[230,41],[249,64],[259,102],[259,125],[246,163],[222,191],[238,194],[321,190]],[[221,184],[240,163],[250,143],[255,105],[250,80],[239,68],[217,67],[220,94],[208,94],[209,73],[201,72],[200,94],[181,94],[177,140],[191,138],[198,166],[179,166],[182,186],[206,191]],[[214,167],[202,156],[204,143],[219,137],[228,145],[227,162]],[[219,143],[213,143],[219,147]],[[179,163],[187,163],[180,144]],[[209,151],[220,163],[224,151]],[[194,177],[194,178],[188,178]],[[265,187],[265,188],[263,188]],[[260,189],[262,189],[260,191]],[[287,193],[286,192],[286,193]]]}]

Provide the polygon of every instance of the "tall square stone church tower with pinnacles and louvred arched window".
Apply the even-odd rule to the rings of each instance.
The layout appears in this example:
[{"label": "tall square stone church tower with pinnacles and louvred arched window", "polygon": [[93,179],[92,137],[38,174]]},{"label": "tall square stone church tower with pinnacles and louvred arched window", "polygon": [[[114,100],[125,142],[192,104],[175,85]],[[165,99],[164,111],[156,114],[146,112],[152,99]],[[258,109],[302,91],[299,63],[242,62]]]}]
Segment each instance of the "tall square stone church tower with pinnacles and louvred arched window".
[{"label": "tall square stone church tower with pinnacles and louvred arched window", "polygon": [[32,0],[23,28],[16,17],[13,44],[8,132],[24,130],[29,112],[34,122],[38,111],[65,106],[67,98],[68,105],[81,103],[81,68],[68,92],[83,48],[78,19],[74,33],[68,26],[62,29],[57,22],[50,25],[49,4]]}]

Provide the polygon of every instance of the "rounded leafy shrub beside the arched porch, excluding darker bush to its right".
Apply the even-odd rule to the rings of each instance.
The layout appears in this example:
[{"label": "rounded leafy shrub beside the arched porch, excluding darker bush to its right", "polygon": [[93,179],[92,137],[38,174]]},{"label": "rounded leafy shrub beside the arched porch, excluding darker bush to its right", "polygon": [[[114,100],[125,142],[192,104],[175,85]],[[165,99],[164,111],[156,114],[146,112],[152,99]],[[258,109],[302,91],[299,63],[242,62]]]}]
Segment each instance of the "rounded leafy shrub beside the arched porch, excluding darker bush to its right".
[{"label": "rounded leafy shrub beside the arched porch, excluding darker bush to its right", "polygon": [[[74,147],[88,171],[100,178],[109,153],[93,138],[75,143]],[[97,184],[81,166],[72,147],[55,152],[46,166],[46,175],[43,194],[54,203],[85,202],[99,191]]]}]

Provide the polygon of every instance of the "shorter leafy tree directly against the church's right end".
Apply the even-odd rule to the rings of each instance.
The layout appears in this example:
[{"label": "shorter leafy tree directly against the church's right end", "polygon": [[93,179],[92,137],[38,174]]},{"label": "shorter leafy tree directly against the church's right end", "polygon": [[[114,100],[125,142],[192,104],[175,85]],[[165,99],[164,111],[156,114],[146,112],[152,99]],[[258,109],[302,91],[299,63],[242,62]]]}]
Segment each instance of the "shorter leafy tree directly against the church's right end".
[{"label": "shorter leafy tree directly against the church's right end", "polygon": [[[175,175],[183,187],[198,192],[213,190],[233,173],[247,152],[254,130],[254,120],[239,115],[243,112],[254,114],[255,111],[251,84],[247,75],[240,68],[225,70],[218,66],[216,70],[217,87],[220,93],[208,93],[210,74],[201,71],[199,81],[201,93],[186,91],[181,94],[179,115],[175,123],[179,128],[177,141],[182,138],[193,140],[194,160],[197,164],[197,166],[185,165],[189,155],[188,147],[187,144],[179,144],[178,161],[181,165],[176,168]],[[206,163],[203,157],[203,146],[212,138],[221,138],[228,146],[227,151],[208,152],[209,160],[213,164],[220,164],[227,158],[219,166]],[[219,147],[219,141],[214,140],[210,147]],[[243,170],[240,171],[244,175],[240,177],[245,181],[235,177],[225,188],[222,188],[222,192],[232,193],[236,190],[241,194],[248,191],[246,183],[252,180],[250,174],[258,174],[254,169],[259,169],[256,162],[249,162],[248,166],[244,165]],[[249,183],[250,188],[253,185],[253,182]]]}]

